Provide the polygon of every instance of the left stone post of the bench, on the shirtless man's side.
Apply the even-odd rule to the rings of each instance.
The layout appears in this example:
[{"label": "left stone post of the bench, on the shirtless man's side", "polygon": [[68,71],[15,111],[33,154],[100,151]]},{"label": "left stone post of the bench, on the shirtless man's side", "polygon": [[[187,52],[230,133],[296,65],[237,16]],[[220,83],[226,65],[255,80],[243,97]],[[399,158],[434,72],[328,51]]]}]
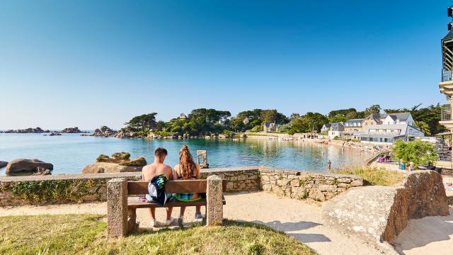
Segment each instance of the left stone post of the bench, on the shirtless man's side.
[{"label": "left stone post of the bench, on the shirtless man's side", "polygon": [[111,179],[107,182],[107,233],[109,237],[127,234],[127,181]]}]

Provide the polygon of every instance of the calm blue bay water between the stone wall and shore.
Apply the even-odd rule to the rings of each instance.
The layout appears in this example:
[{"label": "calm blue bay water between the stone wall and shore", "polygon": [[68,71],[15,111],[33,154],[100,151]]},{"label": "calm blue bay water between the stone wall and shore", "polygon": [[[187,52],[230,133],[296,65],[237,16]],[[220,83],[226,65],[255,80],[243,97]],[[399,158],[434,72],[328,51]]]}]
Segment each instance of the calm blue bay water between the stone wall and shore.
[{"label": "calm blue bay water between the stone wall and shore", "polygon": [[[54,164],[52,174],[80,174],[86,164],[96,162],[99,154],[130,152],[131,158],[146,157],[152,162],[156,147],[168,150],[166,164],[178,162],[178,151],[186,143],[196,157],[197,149],[206,149],[210,167],[274,166],[306,171],[327,171],[332,166],[362,162],[370,154],[333,145],[302,141],[268,139],[246,140],[142,140],[112,137],[81,137],[79,134],[43,136],[42,134],[0,134],[0,160],[40,159]],[[4,175],[5,169],[0,169]]]}]

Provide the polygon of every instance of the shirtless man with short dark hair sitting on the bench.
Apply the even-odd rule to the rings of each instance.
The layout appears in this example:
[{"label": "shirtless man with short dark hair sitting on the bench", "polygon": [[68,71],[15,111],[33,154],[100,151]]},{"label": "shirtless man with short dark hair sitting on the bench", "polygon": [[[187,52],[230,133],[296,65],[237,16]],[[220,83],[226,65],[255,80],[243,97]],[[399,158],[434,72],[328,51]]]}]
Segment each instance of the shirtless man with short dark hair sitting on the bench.
[{"label": "shirtless man with short dark hair sitting on the bench", "polygon": [[[157,148],[154,152],[154,162],[153,164],[149,164],[144,166],[142,169],[142,180],[143,181],[151,181],[154,176],[158,176],[159,174],[165,174],[168,177],[168,180],[173,179],[173,170],[170,166],[164,164],[164,160],[167,157],[167,150],[164,148]],[[164,222],[164,225],[169,226],[175,219],[171,217],[171,211],[173,208],[169,207],[166,208],[167,210],[167,219]],[[151,226],[156,227],[156,208],[149,208],[149,214],[151,215]]]}]

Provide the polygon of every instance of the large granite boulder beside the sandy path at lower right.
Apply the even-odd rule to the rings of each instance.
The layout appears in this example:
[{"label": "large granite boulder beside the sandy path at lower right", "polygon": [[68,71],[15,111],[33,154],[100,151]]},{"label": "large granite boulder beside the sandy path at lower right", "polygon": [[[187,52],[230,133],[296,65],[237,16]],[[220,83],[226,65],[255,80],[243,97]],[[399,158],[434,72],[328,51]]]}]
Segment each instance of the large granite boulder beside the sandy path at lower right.
[{"label": "large granite boulder beside the sandy path at lower right", "polygon": [[326,225],[389,252],[389,243],[408,220],[435,215],[449,215],[442,176],[436,171],[413,171],[401,186],[352,188],[323,205]]}]

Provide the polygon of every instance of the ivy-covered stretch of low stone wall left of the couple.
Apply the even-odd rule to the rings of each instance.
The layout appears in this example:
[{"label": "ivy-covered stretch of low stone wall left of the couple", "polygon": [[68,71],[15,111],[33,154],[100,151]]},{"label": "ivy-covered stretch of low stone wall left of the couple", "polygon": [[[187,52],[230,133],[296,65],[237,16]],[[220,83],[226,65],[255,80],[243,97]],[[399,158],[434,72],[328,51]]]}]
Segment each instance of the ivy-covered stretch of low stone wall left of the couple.
[{"label": "ivy-covered stretch of low stone wall left of the couple", "polygon": [[141,173],[1,177],[0,206],[106,200],[106,183],[114,178],[137,181]]}]

